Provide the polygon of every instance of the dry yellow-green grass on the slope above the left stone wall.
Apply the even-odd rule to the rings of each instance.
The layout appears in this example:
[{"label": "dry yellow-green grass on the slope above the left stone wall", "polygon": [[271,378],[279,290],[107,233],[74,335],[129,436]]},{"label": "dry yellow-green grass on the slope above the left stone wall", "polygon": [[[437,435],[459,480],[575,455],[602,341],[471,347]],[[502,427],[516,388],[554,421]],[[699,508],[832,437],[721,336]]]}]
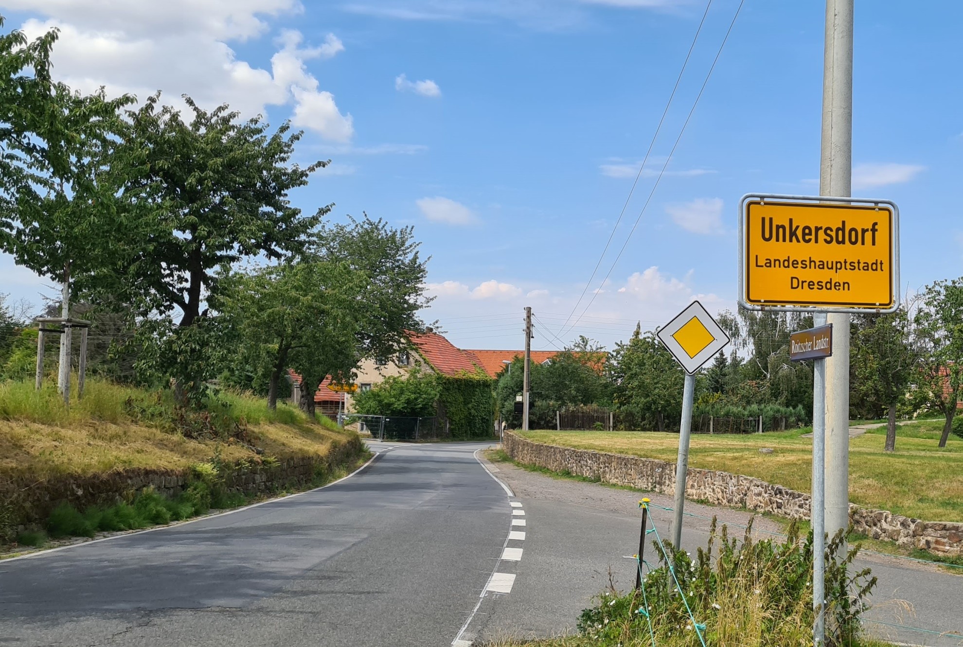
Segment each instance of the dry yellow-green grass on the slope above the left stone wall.
[{"label": "dry yellow-green grass on the slope above the left stone wall", "polygon": [[[351,435],[326,418],[309,421],[299,409],[279,403],[270,411],[262,399],[221,395],[218,414],[248,428],[248,444],[263,455],[325,455],[332,441]],[[225,461],[256,459],[232,439],[195,440],[163,424],[144,422],[128,402],[158,416],[171,408],[169,394],[90,379],[84,399],[67,409],[53,384],[41,391],[33,382],[0,384],[0,477],[88,475],[125,468],[185,469],[216,453]]]}]

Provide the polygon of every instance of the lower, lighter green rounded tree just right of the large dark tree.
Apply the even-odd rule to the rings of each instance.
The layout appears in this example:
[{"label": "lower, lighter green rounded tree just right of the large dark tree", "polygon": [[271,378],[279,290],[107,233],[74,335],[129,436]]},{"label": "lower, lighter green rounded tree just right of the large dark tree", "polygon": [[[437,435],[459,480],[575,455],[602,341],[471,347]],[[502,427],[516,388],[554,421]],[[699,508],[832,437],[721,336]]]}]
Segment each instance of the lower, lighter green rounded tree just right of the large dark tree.
[{"label": "lower, lighter green rounded tree just right of the large dark tree", "polygon": [[[312,380],[316,371],[326,371],[315,384],[325,375],[351,374],[356,353],[332,355],[329,349],[355,348],[363,282],[346,264],[307,260],[225,281],[221,311],[236,330],[239,355],[267,375],[269,408],[277,407],[278,384],[288,368],[309,368]],[[311,396],[313,401],[313,390]]]}]

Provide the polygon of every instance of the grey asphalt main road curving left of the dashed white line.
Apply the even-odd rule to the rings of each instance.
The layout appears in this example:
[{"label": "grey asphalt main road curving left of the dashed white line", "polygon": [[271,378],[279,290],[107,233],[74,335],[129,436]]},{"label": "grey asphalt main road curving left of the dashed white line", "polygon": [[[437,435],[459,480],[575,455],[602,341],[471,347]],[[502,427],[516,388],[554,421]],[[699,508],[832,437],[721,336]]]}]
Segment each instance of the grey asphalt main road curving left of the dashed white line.
[{"label": "grey asphalt main road curving left of the dashed white line", "polygon": [[0,645],[451,645],[513,518],[479,447],[394,446],[324,489],[0,561]]}]

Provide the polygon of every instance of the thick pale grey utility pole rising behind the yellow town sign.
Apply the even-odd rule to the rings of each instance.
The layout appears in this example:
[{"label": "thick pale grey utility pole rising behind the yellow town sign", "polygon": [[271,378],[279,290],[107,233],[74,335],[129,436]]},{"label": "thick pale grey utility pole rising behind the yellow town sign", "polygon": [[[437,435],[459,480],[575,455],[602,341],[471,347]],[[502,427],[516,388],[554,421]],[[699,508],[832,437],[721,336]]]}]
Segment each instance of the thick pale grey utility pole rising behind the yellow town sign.
[{"label": "thick pale grey utility pole rising behind the yellow town sign", "polygon": [[[826,0],[820,195],[851,195],[853,0]],[[831,313],[833,355],[825,360],[826,531],[849,526],[849,315]]]}]

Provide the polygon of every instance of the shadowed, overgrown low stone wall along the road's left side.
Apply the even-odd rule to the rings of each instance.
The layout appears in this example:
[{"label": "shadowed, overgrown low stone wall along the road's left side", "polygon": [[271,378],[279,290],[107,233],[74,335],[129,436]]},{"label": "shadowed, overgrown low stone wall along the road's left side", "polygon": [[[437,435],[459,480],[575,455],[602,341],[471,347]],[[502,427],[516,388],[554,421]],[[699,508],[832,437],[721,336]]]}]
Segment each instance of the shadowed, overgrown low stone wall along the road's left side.
[{"label": "shadowed, overgrown low stone wall along the road's left side", "polygon": [[[235,467],[221,476],[228,490],[255,494],[286,485],[303,485],[316,473],[329,474],[349,463],[363,450],[359,437],[333,444],[324,457],[293,457],[273,467]],[[189,471],[117,470],[87,476],[65,475],[56,479],[12,479],[0,481],[0,503],[13,508],[14,525],[42,522],[54,507],[67,502],[77,509],[89,505],[113,505],[127,493],[153,487],[168,497],[175,497],[187,487]]]}]

